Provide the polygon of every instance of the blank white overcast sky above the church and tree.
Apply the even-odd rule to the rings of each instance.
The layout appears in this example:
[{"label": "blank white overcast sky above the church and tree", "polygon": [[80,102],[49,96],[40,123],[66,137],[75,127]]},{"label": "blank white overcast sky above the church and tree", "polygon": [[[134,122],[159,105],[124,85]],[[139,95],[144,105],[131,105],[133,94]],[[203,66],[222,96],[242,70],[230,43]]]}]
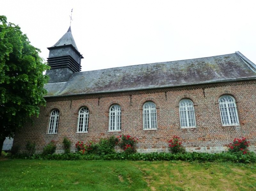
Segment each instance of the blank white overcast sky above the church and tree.
[{"label": "blank white overcast sky above the church and tree", "polygon": [[46,60],[68,30],[82,71],[216,56],[240,51],[256,64],[255,0],[2,0]]}]

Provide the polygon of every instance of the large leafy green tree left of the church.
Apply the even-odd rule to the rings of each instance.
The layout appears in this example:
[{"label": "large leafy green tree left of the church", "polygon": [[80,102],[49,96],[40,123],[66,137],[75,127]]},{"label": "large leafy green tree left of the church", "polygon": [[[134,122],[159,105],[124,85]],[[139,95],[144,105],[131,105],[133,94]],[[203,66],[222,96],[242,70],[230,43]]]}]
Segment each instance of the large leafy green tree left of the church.
[{"label": "large leafy green tree left of the church", "polygon": [[0,151],[5,138],[13,137],[46,104],[43,86],[48,77],[43,71],[48,66],[39,52],[18,25],[0,16]]}]

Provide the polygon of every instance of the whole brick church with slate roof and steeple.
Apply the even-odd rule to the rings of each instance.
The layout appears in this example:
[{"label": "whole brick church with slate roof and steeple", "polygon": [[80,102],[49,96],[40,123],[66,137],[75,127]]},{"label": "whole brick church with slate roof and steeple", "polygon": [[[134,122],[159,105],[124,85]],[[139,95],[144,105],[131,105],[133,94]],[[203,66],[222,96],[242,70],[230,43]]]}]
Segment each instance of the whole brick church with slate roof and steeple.
[{"label": "whole brick church with slate roof and steeple", "polygon": [[222,152],[246,137],[256,151],[256,65],[240,52],[81,72],[71,29],[49,47],[46,107],[15,134],[42,152],[51,140],[97,142],[112,135],[138,138],[137,152],[169,152],[181,138],[188,152]]}]

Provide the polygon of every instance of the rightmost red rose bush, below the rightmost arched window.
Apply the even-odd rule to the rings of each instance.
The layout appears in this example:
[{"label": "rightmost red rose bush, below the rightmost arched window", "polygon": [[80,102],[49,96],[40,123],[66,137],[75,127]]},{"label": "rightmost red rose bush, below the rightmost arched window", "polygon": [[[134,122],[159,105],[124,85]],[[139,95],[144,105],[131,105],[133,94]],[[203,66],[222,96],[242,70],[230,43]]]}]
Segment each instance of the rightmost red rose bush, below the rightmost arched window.
[{"label": "rightmost red rose bush, below the rightmost arched window", "polygon": [[231,153],[243,153],[247,154],[248,153],[248,148],[249,147],[250,141],[247,141],[245,137],[242,137],[242,139],[237,139],[235,138],[233,140],[233,143],[231,142],[228,147],[229,147],[229,152]]}]

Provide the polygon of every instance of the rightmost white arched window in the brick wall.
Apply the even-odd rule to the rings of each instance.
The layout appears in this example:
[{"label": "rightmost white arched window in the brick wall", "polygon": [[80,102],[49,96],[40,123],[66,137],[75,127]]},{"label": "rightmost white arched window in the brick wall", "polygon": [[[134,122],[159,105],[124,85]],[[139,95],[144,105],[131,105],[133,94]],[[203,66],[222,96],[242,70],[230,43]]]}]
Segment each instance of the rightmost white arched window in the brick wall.
[{"label": "rightmost white arched window in the brick wall", "polygon": [[222,125],[239,125],[235,98],[223,95],[219,98]]}]

